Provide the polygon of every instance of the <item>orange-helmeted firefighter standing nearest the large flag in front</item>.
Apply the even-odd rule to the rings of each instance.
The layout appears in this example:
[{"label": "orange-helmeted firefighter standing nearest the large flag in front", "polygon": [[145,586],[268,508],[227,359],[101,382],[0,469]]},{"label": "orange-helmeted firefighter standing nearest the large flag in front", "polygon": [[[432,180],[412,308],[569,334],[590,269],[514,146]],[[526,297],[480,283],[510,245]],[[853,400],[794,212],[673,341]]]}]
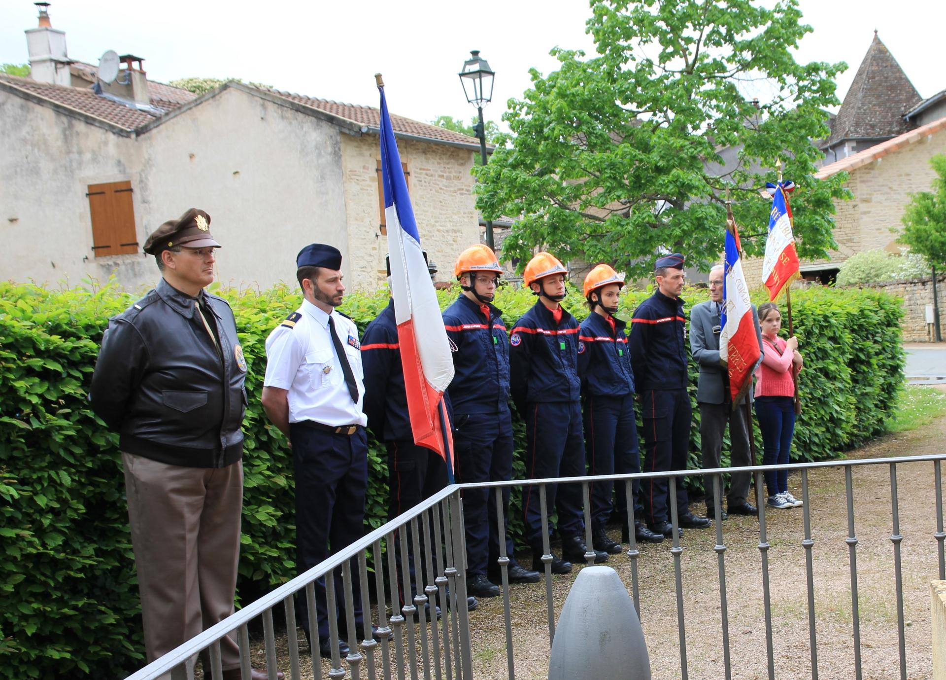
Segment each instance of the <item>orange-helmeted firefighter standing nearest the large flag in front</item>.
[{"label": "orange-helmeted firefighter standing nearest the large flag in front", "polygon": [[[493,305],[502,268],[486,245],[470,246],[453,274],[462,293],[444,313],[453,351],[453,446],[459,483],[507,481],[513,476],[513,421],[509,412],[509,335],[502,311]],[[496,490],[466,489],[466,591],[481,598],[499,595],[499,527]],[[509,518],[509,488],[502,490],[503,519]],[[510,583],[534,583],[538,572],[516,562],[506,534]]]}]

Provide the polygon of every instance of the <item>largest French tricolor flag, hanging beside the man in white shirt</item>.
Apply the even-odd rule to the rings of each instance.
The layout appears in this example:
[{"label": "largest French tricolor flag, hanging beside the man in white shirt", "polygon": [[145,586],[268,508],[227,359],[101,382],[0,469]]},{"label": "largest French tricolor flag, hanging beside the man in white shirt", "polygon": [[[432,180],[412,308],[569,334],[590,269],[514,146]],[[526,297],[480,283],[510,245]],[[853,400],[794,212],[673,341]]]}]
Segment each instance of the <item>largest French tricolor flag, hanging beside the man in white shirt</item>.
[{"label": "largest French tricolor flag, hanging beside the man in white shirt", "polygon": [[452,483],[453,437],[444,392],[453,380],[453,357],[444,317],[420,247],[384,87],[377,89],[381,93],[381,178],[391,259],[391,291],[411,429],[415,444],[443,456]]}]

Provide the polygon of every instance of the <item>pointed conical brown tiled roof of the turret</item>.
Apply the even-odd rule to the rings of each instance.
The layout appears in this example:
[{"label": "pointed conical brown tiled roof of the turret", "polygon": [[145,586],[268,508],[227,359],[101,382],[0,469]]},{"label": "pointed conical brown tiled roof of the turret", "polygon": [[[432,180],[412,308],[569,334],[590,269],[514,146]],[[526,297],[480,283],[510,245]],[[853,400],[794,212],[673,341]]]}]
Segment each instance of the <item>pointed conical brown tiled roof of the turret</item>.
[{"label": "pointed conical brown tiled roof of the turret", "polygon": [[921,100],[920,93],[875,31],[844,103],[832,120],[832,134],[825,146],[842,139],[902,134],[909,129],[903,115]]}]

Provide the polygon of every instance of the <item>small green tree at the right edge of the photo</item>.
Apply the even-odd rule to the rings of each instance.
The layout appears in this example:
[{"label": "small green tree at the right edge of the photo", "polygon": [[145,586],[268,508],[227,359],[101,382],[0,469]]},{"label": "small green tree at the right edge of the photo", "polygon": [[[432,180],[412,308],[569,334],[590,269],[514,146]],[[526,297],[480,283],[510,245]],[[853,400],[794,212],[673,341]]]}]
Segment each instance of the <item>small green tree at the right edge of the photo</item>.
[{"label": "small green tree at the right edge of the photo", "polygon": [[937,173],[932,191],[910,194],[910,203],[903,210],[903,232],[899,241],[909,245],[929,262],[933,274],[933,308],[937,342],[939,331],[939,300],[937,299],[937,267],[946,268],[946,154],[930,158],[930,166]]}]

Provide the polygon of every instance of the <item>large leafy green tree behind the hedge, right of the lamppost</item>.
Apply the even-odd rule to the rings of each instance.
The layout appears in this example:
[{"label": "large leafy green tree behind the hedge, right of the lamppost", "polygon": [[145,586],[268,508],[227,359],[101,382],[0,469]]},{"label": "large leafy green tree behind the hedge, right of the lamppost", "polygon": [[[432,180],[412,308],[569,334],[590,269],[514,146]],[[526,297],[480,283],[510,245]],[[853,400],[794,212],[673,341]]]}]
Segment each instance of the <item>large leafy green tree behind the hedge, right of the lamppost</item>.
[{"label": "large leafy green tree behind the hedge, right of the lamppost", "polygon": [[524,261],[542,244],[643,276],[667,248],[705,270],[723,248],[727,188],[745,251],[760,255],[770,203],[759,191],[776,179],[762,169],[781,158],[797,185],[798,254],[826,257],[847,175],[815,180],[812,140],[829,134],[823,109],[838,103],[833,79],[847,64],[796,63],[812,30],[797,0],[592,0],[591,10],[597,55],[553,49],[560,68],[532,70],[532,89],[503,115],[511,143],[501,135],[474,170],[483,216],[517,216],[503,255]]}]

